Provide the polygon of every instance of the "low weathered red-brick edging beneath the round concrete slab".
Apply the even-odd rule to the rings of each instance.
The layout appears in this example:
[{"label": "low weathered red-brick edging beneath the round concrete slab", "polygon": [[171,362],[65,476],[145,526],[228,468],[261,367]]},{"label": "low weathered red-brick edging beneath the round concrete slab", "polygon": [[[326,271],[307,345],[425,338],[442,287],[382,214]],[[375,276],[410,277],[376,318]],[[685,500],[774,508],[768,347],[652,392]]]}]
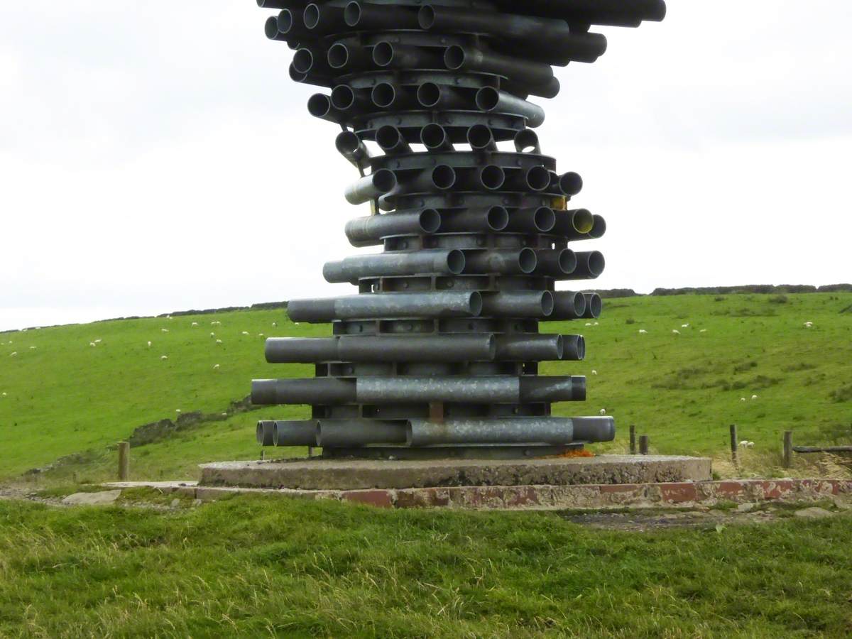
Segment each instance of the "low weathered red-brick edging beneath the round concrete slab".
[{"label": "low weathered red-brick edging beneath the round concrete slab", "polygon": [[450,509],[642,508],[713,505],[723,501],[735,504],[763,501],[805,502],[842,494],[852,496],[852,480],[838,479],[679,481],[573,486],[446,486],[349,491],[198,486],[192,481],[125,481],[112,482],[105,486],[149,486],[162,492],[175,492],[201,501],[214,501],[235,494],[264,494],[302,499],[332,499],[382,508]]}]

